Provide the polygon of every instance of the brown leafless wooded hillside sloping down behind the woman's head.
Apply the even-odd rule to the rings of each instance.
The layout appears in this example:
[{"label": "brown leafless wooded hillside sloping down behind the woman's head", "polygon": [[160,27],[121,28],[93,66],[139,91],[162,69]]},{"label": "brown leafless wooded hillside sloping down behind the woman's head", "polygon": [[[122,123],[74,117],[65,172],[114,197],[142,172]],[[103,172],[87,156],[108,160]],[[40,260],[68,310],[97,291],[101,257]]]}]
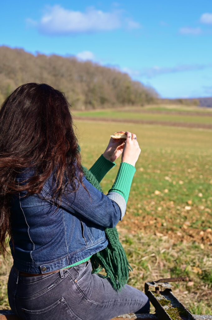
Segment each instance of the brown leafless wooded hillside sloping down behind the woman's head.
[{"label": "brown leafless wooded hillside sloping down behind the woman's head", "polygon": [[44,55],[0,46],[0,103],[27,82],[47,83],[65,93],[73,108],[143,105],[157,92],[126,73],[75,57]]}]

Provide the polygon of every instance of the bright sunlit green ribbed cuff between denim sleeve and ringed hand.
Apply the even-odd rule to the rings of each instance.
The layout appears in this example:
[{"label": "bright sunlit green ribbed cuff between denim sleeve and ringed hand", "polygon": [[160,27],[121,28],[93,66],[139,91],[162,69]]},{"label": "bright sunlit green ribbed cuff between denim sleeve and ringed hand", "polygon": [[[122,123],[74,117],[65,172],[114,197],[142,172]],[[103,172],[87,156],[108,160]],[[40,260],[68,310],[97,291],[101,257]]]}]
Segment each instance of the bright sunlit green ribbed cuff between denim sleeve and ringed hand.
[{"label": "bright sunlit green ribbed cuff between denim sleeve and ringed hand", "polygon": [[123,196],[127,203],[129,190],[135,171],[135,167],[132,164],[121,162],[115,182],[113,183],[113,187],[108,191],[108,193],[118,192],[121,196]]}]

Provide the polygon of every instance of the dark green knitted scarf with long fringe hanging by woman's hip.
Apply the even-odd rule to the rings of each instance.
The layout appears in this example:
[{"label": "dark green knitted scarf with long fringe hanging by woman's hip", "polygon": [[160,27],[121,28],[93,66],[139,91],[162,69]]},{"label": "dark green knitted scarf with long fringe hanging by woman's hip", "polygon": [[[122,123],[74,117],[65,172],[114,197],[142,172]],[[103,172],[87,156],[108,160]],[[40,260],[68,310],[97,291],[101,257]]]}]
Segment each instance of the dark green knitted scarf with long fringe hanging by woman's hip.
[{"label": "dark green knitted scarf with long fringe hanging by woman's hip", "polygon": [[[85,178],[99,191],[102,192],[102,188],[95,176],[85,167],[82,166]],[[113,289],[120,290],[128,281],[130,267],[124,248],[119,241],[119,234],[114,228],[105,228],[106,238],[108,245],[105,249],[95,253],[91,257],[92,273],[98,273],[103,268],[105,269],[106,277],[110,277]]]}]

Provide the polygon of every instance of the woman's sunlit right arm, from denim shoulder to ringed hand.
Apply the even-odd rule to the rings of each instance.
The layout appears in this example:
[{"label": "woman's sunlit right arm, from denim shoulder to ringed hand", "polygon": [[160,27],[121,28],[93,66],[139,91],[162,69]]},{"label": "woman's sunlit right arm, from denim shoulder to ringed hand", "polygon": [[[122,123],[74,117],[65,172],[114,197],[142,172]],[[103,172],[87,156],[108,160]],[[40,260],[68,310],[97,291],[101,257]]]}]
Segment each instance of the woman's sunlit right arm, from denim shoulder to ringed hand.
[{"label": "woman's sunlit right arm, from denim shoulder to ringed hand", "polygon": [[[62,195],[61,202],[59,202],[61,207],[71,213],[83,216],[96,224],[109,228],[113,228],[122,219],[126,209],[132,178],[135,173],[133,164],[137,161],[141,151],[135,137],[132,135],[132,138],[130,132],[128,134],[130,141],[127,139],[125,143],[122,163],[108,195],[106,196],[94,188],[84,177],[83,184],[88,192],[82,184],[79,184],[79,188],[76,191],[68,185],[67,188],[69,189],[66,190],[67,193]],[[49,198],[49,196],[53,196],[51,181],[47,181],[43,191],[45,197]],[[58,202],[59,200],[55,199],[55,201]]]}]

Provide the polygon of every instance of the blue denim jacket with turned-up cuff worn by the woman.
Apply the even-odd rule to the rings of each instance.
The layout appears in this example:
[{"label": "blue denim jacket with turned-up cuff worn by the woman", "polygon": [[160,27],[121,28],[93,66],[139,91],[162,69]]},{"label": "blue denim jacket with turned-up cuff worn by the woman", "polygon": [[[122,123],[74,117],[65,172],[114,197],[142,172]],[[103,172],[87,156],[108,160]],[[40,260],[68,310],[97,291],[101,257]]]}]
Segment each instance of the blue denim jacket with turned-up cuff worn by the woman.
[{"label": "blue denim jacket with turned-up cuff worn by the woman", "polygon": [[[18,183],[29,171],[16,178]],[[14,267],[27,273],[47,273],[67,267],[104,249],[104,227],[113,228],[125,213],[126,202],[117,192],[106,195],[85,177],[77,191],[68,186],[59,208],[51,200],[52,177],[41,193],[20,192],[11,202],[11,253]],[[57,202],[55,198],[55,202]]]}]

